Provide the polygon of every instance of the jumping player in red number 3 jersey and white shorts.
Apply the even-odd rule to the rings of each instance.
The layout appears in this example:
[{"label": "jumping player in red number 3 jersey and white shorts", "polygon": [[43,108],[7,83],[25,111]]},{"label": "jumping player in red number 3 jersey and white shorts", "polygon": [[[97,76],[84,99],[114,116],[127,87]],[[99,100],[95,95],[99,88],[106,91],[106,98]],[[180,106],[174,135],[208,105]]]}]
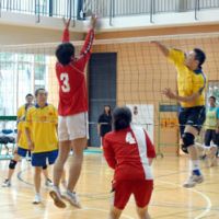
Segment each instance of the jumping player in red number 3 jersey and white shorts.
[{"label": "jumping player in red number 3 jersey and white shorts", "polygon": [[[60,208],[66,207],[64,199],[76,207],[80,207],[74,187],[81,173],[83,149],[88,140],[88,94],[84,68],[91,57],[95,23],[96,18],[93,15],[91,18],[91,28],[79,58],[74,57],[74,46],[69,43],[70,20],[65,21],[62,44],[56,49],[58,59],[56,74],[59,83],[59,154],[54,168],[54,187],[49,194],[54,199],[54,204]],[[59,183],[71,149],[73,155],[67,191],[61,194]]]}]

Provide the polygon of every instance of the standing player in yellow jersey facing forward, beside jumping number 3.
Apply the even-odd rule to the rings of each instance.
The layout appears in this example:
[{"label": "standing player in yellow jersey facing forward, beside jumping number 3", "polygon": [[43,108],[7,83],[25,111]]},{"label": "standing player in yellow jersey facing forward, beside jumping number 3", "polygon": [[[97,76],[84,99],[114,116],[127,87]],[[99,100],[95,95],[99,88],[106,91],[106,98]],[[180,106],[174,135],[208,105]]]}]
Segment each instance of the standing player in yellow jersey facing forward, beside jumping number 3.
[{"label": "standing player in yellow jersey facing forward, beside jumping number 3", "polygon": [[38,89],[35,92],[36,104],[26,113],[25,134],[28,149],[32,151],[32,165],[35,168],[34,204],[39,204],[41,173],[47,164],[54,164],[58,155],[57,119],[55,106],[47,103],[47,92]]}]

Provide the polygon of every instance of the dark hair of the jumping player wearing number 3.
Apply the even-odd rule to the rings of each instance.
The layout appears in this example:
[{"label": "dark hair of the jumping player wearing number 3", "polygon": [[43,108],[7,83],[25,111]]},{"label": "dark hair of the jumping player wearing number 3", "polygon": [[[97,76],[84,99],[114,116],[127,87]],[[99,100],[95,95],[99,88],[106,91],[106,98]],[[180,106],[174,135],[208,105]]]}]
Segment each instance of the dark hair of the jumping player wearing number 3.
[{"label": "dark hair of the jumping player wearing number 3", "polygon": [[60,44],[56,49],[56,57],[62,66],[67,66],[74,56],[74,46],[71,43]]}]

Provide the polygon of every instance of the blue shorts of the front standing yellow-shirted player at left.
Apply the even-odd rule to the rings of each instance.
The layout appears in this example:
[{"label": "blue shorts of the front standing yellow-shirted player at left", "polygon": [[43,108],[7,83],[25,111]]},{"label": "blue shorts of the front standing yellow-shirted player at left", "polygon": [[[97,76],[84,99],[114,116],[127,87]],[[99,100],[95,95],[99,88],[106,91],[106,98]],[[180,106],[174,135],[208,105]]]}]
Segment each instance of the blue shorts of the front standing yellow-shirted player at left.
[{"label": "blue shorts of the front standing yellow-shirted player at left", "polygon": [[58,157],[58,150],[41,153],[32,153],[32,165],[33,166],[45,166],[55,163]]}]

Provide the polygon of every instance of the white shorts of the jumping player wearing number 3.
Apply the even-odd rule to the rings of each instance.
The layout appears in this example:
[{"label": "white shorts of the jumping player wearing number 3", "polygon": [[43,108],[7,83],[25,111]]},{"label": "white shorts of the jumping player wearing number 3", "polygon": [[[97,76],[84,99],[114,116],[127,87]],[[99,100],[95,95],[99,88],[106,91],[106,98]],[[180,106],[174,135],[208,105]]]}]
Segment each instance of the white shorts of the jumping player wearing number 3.
[{"label": "white shorts of the jumping player wearing number 3", "polygon": [[88,113],[58,117],[59,141],[89,138]]}]

